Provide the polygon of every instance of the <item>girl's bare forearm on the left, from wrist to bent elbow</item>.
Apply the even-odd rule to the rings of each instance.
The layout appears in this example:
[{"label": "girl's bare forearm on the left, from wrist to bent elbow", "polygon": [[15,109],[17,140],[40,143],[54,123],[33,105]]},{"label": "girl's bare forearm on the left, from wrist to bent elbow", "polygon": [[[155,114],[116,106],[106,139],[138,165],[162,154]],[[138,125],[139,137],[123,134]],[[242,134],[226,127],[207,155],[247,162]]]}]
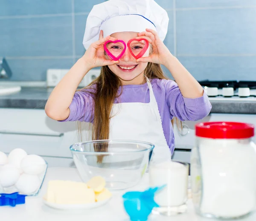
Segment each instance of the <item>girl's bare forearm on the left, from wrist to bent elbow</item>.
[{"label": "girl's bare forearm on the left, from wrist to bent elbow", "polygon": [[67,119],[70,114],[69,106],[77,87],[89,70],[90,67],[87,67],[81,58],[73,65],[69,72],[52,90],[45,106],[47,116],[55,120]]}]

